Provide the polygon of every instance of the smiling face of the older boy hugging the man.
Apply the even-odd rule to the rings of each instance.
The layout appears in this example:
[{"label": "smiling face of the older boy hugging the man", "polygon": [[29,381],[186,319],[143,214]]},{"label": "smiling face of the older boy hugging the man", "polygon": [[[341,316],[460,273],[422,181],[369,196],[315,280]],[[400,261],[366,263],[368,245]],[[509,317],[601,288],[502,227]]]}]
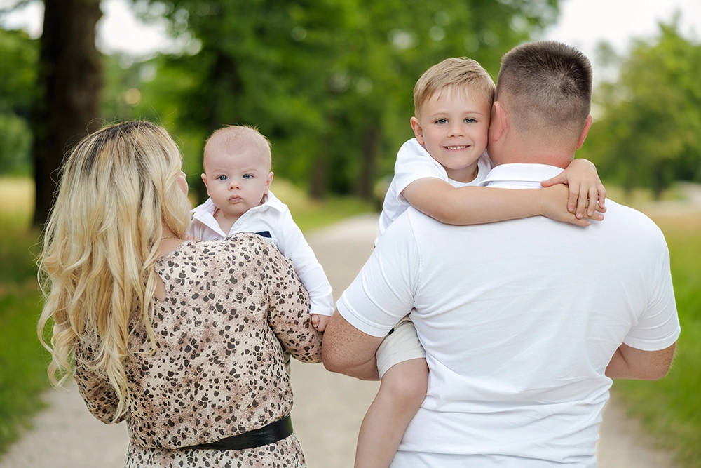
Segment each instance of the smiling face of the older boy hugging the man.
[{"label": "smiling face of the older boy hugging the man", "polygon": [[421,118],[411,118],[420,145],[443,166],[448,177],[470,182],[486,149],[491,102],[463,89],[444,89],[421,107]]}]

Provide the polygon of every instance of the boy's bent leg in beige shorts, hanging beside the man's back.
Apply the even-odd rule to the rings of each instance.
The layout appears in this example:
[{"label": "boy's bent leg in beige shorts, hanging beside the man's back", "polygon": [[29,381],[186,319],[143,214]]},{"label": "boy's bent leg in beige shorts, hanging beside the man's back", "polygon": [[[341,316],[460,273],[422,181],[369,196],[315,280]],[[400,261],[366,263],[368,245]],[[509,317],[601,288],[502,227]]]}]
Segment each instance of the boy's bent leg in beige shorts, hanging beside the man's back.
[{"label": "boy's bent leg in beige shorts, hanging beside the man's back", "polygon": [[428,366],[414,323],[402,319],[377,350],[380,389],[358,434],[355,468],[387,468],[426,398]]}]

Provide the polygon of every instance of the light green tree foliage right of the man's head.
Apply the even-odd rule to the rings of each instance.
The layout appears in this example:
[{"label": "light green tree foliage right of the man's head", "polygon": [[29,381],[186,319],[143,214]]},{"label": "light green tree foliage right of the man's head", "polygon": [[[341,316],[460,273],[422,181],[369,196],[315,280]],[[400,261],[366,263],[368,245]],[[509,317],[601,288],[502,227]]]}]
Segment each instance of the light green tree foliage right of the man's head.
[{"label": "light green tree foliage right of the man's head", "polygon": [[679,34],[678,23],[660,24],[653,41],[637,41],[618,60],[620,76],[597,89],[604,110],[583,156],[627,189],[646,187],[659,196],[674,180],[701,181],[701,44]]}]

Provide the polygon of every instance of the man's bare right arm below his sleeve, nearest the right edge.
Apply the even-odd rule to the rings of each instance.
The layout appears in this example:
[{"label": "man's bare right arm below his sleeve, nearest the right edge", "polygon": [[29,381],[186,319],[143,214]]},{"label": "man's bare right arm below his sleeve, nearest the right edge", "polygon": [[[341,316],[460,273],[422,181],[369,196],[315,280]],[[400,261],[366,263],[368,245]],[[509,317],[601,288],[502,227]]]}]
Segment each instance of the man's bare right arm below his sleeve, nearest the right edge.
[{"label": "man's bare right arm below his sleeve, nearest the right edge", "polygon": [[606,366],[606,376],[612,379],[661,379],[672,366],[675,348],[676,342],[660,351],[643,351],[624,343],[613,353]]}]

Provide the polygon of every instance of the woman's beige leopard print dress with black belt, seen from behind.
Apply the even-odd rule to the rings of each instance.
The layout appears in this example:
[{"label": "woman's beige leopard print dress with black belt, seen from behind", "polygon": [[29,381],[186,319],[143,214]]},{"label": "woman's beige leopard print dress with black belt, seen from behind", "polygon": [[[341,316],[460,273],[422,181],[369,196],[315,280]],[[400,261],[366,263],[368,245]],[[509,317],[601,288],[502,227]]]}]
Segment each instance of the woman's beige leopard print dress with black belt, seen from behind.
[{"label": "woman's beige leopard print dress with black belt, seen from behind", "polygon": [[234,436],[290,414],[292,389],[283,351],[321,360],[321,334],[289,260],[255,234],[190,242],[164,255],[156,271],[166,297],[156,302],[155,347],[135,314],[123,364],[130,398],[114,420],[117,398],[93,367],[96,337],[74,349],[88,409],[105,423],[125,420],[125,466],[305,467],[294,434],[245,450],[186,449]]}]

